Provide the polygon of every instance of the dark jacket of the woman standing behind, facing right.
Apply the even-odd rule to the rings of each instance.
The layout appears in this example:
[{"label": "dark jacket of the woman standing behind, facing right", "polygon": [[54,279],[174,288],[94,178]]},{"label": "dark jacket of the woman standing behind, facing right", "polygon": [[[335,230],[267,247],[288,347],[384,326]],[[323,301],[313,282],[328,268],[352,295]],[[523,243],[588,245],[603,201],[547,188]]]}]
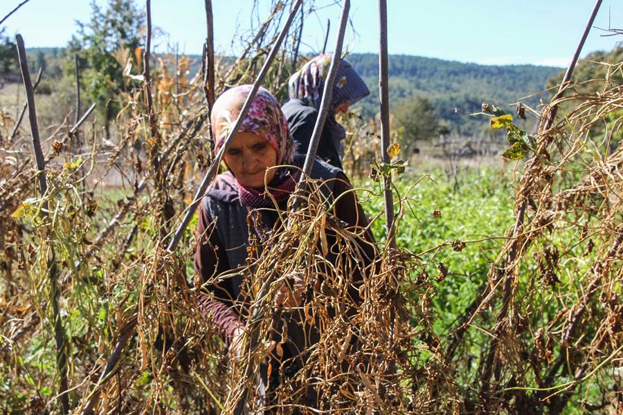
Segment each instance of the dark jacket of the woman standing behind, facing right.
[{"label": "dark jacket of the woman standing behind, facing right", "polygon": [[[316,118],[318,118],[318,111],[299,99],[289,100],[283,104],[281,110],[288,120],[288,129],[294,139],[294,151],[297,154],[307,154],[309,140],[311,140],[311,134],[314,133],[314,125],[316,125]],[[316,157],[338,169],[342,169],[338,149],[335,145],[337,141],[338,139],[332,136],[331,129],[327,128],[325,122],[320,142],[318,142]]]}]

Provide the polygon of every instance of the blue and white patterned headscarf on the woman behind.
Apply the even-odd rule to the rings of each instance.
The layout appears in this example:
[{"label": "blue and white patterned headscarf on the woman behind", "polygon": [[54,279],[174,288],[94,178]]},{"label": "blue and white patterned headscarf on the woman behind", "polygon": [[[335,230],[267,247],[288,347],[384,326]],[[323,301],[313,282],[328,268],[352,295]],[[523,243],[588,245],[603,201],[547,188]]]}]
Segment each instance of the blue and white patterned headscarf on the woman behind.
[{"label": "blue and white patterned headscarf on the woman behind", "polygon": [[[320,101],[323,99],[325,79],[329,74],[332,55],[324,53],[312,58],[298,71],[291,75],[288,80],[288,95],[291,100],[307,99],[316,109],[320,109]],[[348,101],[350,104],[365,98],[370,94],[370,89],[359,76],[352,65],[341,59],[340,66],[333,85],[333,95],[329,111],[333,112],[340,104]]]}]

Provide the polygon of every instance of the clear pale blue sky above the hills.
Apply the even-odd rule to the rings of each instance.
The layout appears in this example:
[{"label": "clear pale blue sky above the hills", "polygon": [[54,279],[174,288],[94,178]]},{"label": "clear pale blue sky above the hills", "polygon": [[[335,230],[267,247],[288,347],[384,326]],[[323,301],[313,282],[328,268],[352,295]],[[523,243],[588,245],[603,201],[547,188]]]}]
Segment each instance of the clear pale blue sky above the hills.
[{"label": "clear pale blue sky above the hills", "polygon": [[[96,0],[105,4],[106,0]],[[0,1],[0,17],[21,0]],[[27,47],[64,46],[75,32],[75,20],[89,19],[90,0],[30,0],[3,26],[21,33]],[[143,1],[137,1],[143,5]],[[269,0],[260,0],[260,17],[268,14]],[[304,2],[309,3],[309,1]],[[334,43],[340,3],[317,0],[318,10],[307,16],[304,51],[322,48],[327,18],[332,21],[329,49]],[[480,64],[541,64],[566,66],[579,41],[594,0],[388,0],[390,53],[420,55]],[[213,0],[215,42],[219,53],[235,55],[236,28],[249,30],[253,0]],[[305,6],[308,10],[309,5]],[[351,53],[378,50],[377,1],[352,0],[352,28],[346,47]],[[156,42],[162,51],[179,45],[180,51],[201,53],[206,32],[203,0],[152,0],[152,21],[168,37]],[[623,28],[623,1],[604,0],[595,20],[599,28]],[[623,37],[603,37],[593,28],[583,56],[593,50],[611,50]]]}]

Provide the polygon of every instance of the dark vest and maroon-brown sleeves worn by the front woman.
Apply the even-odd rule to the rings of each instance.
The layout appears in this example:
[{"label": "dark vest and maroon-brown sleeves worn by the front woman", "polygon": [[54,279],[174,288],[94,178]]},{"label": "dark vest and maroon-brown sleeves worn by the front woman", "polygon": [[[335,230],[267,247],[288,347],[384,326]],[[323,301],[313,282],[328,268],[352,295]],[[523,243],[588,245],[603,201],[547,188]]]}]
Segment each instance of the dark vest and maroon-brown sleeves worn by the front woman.
[{"label": "dark vest and maroon-brown sleeves worn by the front woman", "polygon": [[[303,157],[296,156],[295,165],[303,164]],[[239,267],[244,267],[249,256],[246,247],[249,245],[249,228],[246,216],[249,210],[240,204],[235,179],[226,172],[217,177],[215,185],[208,195],[201,201],[199,221],[197,223],[198,243],[195,251],[195,273],[199,283],[204,284],[217,275],[231,273]],[[327,181],[321,189],[325,196],[337,199],[334,214],[347,226],[365,228],[368,225],[361,205],[356,200],[347,177],[341,170],[327,163],[316,160],[311,178],[320,178]],[[328,193],[328,194],[327,194]],[[338,197],[341,196],[342,197]],[[285,206],[280,206],[283,210]],[[276,211],[263,209],[262,221],[265,228],[273,228],[279,216]],[[366,232],[368,242],[373,242],[370,232]],[[327,233],[327,238],[330,239]],[[332,243],[329,242],[329,246]],[[365,255],[372,260],[374,248],[372,245],[362,246]],[[259,253],[259,252],[258,252]],[[244,297],[241,293],[242,275],[233,273],[217,284],[204,287],[213,296],[203,296],[199,300],[204,315],[215,326],[222,338],[229,342],[234,329],[244,324],[242,319],[246,315]]]}]

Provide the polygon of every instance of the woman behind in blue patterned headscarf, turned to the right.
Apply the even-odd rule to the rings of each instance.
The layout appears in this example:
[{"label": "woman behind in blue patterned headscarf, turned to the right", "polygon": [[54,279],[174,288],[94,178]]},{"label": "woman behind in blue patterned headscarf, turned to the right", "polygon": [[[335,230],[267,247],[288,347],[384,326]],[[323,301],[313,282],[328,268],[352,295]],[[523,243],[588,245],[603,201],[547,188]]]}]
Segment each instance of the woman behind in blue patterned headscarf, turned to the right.
[{"label": "woman behind in blue patterned headscarf, turned to the right", "polygon": [[[294,138],[295,151],[306,154],[309,139],[314,131],[320,101],[323,99],[325,77],[331,64],[329,54],[318,55],[296,71],[288,81],[288,95],[282,111],[288,120],[290,133]],[[370,94],[368,86],[346,59],[342,59],[333,86],[329,113],[323,129],[316,156],[327,163],[342,168],[344,156],[344,127],[335,119],[338,113],[345,113],[348,107]]]}]

